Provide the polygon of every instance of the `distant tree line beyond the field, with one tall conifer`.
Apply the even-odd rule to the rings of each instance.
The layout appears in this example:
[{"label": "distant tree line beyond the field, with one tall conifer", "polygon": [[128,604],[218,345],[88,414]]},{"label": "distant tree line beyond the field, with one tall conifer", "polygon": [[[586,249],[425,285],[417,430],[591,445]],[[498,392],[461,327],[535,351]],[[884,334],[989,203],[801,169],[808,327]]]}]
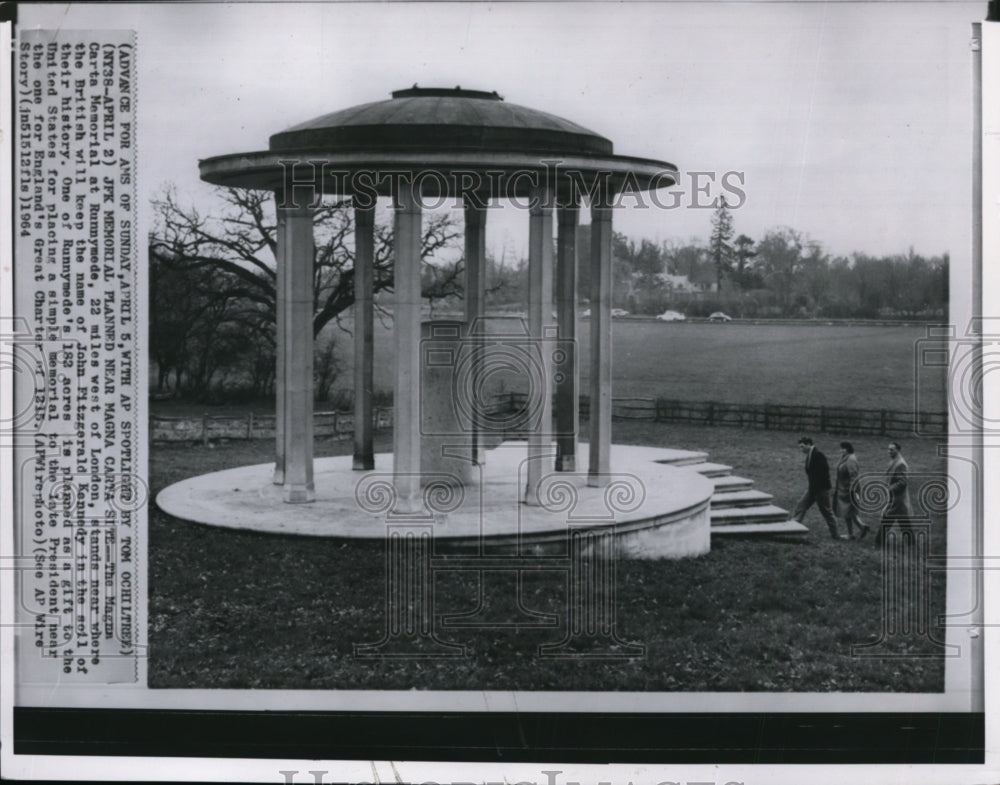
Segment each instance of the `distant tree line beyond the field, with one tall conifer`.
[{"label": "distant tree line beyond the field, with one tall conifer", "polygon": [[[734,237],[723,202],[706,242],[655,243],[615,233],[612,303],[633,314],[739,318],[940,319],[948,308],[948,254],[832,256],[789,227]],[[578,230],[578,289],[590,287],[590,227]],[[496,265],[494,265],[496,267]],[[506,302],[527,302],[527,262],[500,266]]]}]

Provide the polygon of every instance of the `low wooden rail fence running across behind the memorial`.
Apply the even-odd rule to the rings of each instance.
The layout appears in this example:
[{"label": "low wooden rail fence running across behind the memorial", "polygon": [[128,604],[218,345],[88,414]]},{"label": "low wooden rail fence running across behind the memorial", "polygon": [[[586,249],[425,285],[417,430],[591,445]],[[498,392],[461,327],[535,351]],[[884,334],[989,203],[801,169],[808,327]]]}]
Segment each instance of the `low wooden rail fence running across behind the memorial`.
[{"label": "low wooden rail fence running across behind the memorial", "polygon": [[[496,396],[490,414],[518,412],[527,404],[519,392]],[[580,396],[580,417],[590,414],[590,399]],[[614,398],[611,416],[617,420],[684,422],[777,431],[860,434],[872,436],[945,435],[948,415],[944,412],[902,412],[893,409],[848,409],[834,406],[788,406],[775,403],[746,404],[718,401],[680,401],[670,398]],[[317,438],[350,439],[354,433],[353,412],[316,412],[313,433]],[[392,427],[392,408],[374,409],[375,430]],[[273,414],[203,415],[201,417],[150,416],[151,442],[215,439],[273,439]],[[524,436],[515,430],[505,436]]]}]

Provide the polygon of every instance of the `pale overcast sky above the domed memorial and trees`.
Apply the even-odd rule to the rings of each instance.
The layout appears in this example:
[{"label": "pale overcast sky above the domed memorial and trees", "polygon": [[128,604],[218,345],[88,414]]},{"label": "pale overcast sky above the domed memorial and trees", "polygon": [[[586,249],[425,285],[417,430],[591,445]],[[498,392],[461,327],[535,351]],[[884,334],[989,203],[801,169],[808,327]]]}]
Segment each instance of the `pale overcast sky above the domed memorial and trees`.
[{"label": "pale overcast sky above the domed memorial and trees", "polygon": [[[740,173],[737,233],[790,226],[831,254],[969,256],[975,2],[22,5],[20,26],[138,31],[139,190],[201,205],[197,162],[392,90],[496,90],[682,173],[633,239],[706,241],[690,176]],[[722,193],[714,190],[713,194]],[[489,250],[525,253],[526,216]]]}]

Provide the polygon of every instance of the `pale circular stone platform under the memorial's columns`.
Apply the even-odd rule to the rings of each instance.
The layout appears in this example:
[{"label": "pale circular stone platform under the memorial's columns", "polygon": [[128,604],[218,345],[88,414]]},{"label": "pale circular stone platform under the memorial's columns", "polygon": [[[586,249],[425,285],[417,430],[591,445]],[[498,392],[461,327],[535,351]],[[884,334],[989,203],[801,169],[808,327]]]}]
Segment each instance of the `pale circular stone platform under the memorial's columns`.
[{"label": "pale circular stone platform under the memorial's columns", "polygon": [[[395,523],[433,524],[435,541],[457,550],[518,545],[545,551],[562,545],[569,527],[612,526],[620,555],[694,556],[710,548],[709,501],[713,483],[694,468],[669,465],[676,451],[612,445],[614,471],[603,488],[587,486],[581,444],[576,472],[543,479],[538,505],[520,502],[525,442],[505,442],[486,453],[478,481],[456,488],[431,477],[423,513],[398,514],[392,490],[392,455],[379,454],[372,471],[354,471],[351,456],[314,464],[316,500],[286,504],[274,485],[273,464],[241,466],[175,483],[156,497],[168,515],[211,526],[274,534],[379,539]],[[439,481],[442,480],[442,481]]]}]

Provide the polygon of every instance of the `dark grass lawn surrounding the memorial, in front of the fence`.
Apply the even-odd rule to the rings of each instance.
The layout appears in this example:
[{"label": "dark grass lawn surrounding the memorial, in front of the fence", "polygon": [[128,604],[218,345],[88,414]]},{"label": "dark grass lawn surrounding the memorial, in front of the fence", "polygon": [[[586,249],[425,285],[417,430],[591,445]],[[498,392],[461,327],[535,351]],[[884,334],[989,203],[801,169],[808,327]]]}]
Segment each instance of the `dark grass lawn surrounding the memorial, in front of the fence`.
[{"label": "dark grass lawn surrounding the memorial, in front of the fence", "polygon": [[[798,434],[654,423],[614,425],[616,442],[701,449],[756,480],[791,509],[805,487]],[[838,437],[820,436],[831,458]],[[883,439],[855,437],[862,471],[881,469]],[[388,450],[389,434],[376,448]],[[916,474],[942,472],[936,444],[907,440]],[[350,442],[318,441],[317,455],[344,454]],[[184,477],[272,458],[268,441],[157,445],[155,493]],[[916,500],[916,489],[913,489]],[[851,644],[882,629],[881,554],[873,538],[836,542],[813,510],[797,541],[715,538],[706,556],[679,561],[620,560],[617,633],[645,646],[625,661],[553,660],[538,646],[563,637],[564,573],[526,575],[522,599],[557,614],[552,629],[496,626],[515,608],[488,593],[493,626],[439,629],[468,647],[461,659],[359,660],[354,644],[385,630],[385,556],[380,543],[237,532],[187,523],[150,508],[152,687],[302,689],[895,691],[937,692],[944,661],[928,641],[896,644],[900,659],[858,659]],[[932,552],[943,553],[945,521],[933,520]],[[435,612],[470,611],[473,573],[438,575]],[[944,610],[944,582],[931,586],[931,618]],[[889,613],[896,609],[890,608]],[[943,639],[943,632],[934,635]],[[909,648],[907,648],[909,647]]]}]

